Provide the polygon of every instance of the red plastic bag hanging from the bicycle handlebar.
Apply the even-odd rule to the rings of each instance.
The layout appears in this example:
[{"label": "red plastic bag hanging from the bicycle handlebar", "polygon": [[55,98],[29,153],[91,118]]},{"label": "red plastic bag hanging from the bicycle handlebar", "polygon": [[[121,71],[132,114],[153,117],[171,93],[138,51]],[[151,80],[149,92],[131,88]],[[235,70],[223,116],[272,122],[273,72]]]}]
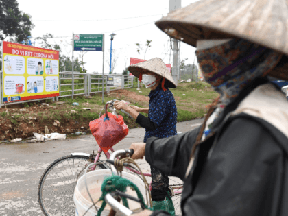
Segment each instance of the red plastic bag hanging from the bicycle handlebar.
[{"label": "red plastic bag hanging from the bicycle handlebar", "polygon": [[129,132],[129,128],[125,125],[123,117],[118,115],[117,118],[110,112],[108,112],[108,119],[106,119],[106,115],[104,114],[99,119],[91,121],[89,126],[96,142],[105,153],[113,145],[124,139]]}]

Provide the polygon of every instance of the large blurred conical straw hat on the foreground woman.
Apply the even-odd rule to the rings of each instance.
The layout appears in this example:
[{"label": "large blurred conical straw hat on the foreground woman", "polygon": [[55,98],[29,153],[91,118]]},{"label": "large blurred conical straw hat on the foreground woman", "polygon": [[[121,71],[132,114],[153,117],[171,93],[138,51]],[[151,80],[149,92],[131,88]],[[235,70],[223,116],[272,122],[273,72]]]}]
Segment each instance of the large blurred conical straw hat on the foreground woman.
[{"label": "large blurred conical straw hat on the foreground woman", "polygon": [[[287,0],[201,0],[156,25],[193,47],[197,40],[243,38],[288,56]],[[269,75],[288,80],[285,58]]]}]

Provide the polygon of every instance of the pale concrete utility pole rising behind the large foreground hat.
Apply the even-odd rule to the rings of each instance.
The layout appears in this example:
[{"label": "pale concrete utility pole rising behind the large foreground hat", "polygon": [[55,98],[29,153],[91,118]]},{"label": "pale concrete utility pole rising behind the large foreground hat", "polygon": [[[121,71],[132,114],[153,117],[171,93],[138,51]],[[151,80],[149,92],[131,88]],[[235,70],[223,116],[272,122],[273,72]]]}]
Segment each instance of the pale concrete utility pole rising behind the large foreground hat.
[{"label": "pale concrete utility pole rising behind the large foreground hat", "polygon": [[[181,8],[181,0],[169,0],[169,12]],[[173,67],[172,67],[172,77],[176,84],[178,84],[178,40],[173,39]]]}]

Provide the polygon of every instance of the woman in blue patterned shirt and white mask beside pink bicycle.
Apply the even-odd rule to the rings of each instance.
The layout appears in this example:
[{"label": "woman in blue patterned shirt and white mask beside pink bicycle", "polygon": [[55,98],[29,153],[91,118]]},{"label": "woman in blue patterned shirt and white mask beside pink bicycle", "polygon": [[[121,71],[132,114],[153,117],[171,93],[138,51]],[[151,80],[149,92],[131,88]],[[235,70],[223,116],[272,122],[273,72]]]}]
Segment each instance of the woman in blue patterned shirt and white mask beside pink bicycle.
[{"label": "woman in blue patterned shirt and white mask beside pink bicycle", "polygon": [[[128,67],[128,70],[146,86],[150,88],[149,108],[127,106],[123,101],[115,101],[117,110],[125,110],[146,129],[144,142],[150,137],[169,137],[177,134],[177,108],[176,102],[168,88],[176,88],[169,69],[160,58],[153,58],[139,64]],[[145,112],[145,117],[139,112]],[[152,203],[154,206],[163,207],[167,196],[169,178],[155,167],[151,167],[152,173]]]}]

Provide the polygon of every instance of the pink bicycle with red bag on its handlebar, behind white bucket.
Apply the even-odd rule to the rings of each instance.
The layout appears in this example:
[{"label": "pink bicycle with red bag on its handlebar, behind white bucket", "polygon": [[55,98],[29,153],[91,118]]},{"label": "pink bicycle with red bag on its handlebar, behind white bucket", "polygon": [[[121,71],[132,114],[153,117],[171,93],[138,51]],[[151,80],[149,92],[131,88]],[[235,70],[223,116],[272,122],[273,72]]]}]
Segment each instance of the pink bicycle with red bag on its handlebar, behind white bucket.
[{"label": "pink bicycle with red bag on its handlebar, behind white bucket", "polygon": [[[114,108],[114,101],[108,101],[105,106],[105,113],[107,115],[108,105],[113,114],[117,116]],[[101,112],[100,112],[101,115]],[[113,147],[110,152],[115,152]],[[89,171],[95,169],[111,169],[110,165],[103,163],[100,160],[102,149],[99,147],[97,154],[87,154],[82,152],[75,152],[68,156],[64,156],[55,160],[51,165],[45,169],[45,172],[40,178],[38,184],[38,202],[45,216],[54,215],[73,215],[75,212],[75,204],[73,202],[73,193],[77,184],[77,179],[84,174],[84,169],[91,164],[102,162],[93,165]],[[104,152],[106,159],[110,158],[110,153]],[[126,167],[125,171],[130,173],[139,174],[139,172]],[[144,173],[144,176],[151,177],[150,173]],[[169,184],[171,197],[175,206],[176,214],[181,215],[180,200],[182,195],[182,182],[169,177],[169,182],[176,182]],[[151,188],[151,187],[150,187]]]}]

